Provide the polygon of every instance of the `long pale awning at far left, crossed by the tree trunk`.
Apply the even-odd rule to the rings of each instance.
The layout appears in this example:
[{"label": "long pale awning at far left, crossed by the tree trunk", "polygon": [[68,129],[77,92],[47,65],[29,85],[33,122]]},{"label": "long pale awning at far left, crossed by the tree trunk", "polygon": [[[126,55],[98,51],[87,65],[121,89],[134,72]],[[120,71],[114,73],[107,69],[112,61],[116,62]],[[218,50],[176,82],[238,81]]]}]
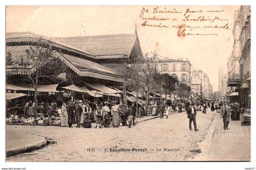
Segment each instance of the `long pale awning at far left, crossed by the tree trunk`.
[{"label": "long pale awning at far left, crossed by the tree trunk", "polygon": [[[59,92],[56,90],[59,84],[49,84],[49,85],[38,85],[37,91],[38,92]],[[6,84],[7,90],[28,90],[28,91],[35,91],[35,88],[32,84],[27,86],[16,86],[13,84]]]}]

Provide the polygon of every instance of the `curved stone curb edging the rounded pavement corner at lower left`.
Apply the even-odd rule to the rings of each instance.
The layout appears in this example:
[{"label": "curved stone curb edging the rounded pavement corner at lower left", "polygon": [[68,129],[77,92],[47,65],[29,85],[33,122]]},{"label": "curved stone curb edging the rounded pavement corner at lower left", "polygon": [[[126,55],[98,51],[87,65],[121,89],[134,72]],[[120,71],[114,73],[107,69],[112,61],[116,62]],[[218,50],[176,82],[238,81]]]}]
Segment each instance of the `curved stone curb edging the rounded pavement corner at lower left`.
[{"label": "curved stone curb edging the rounded pavement corner at lower left", "polygon": [[35,149],[40,149],[46,146],[46,138],[39,137],[39,140],[35,143],[26,144],[25,146],[20,146],[16,148],[12,148],[6,151],[6,157],[12,157],[14,155],[22,154],[24,152],[34,151]]}]

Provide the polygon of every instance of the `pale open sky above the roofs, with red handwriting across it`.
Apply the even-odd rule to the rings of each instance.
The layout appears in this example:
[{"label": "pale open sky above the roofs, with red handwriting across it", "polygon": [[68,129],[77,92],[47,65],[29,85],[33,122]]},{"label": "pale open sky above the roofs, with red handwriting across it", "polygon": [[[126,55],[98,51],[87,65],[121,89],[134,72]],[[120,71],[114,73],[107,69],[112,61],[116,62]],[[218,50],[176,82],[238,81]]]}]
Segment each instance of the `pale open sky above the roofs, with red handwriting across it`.
[{"label": "pale open sky above the roofs, with red handwriting across it", "polygon": [[[154,13],[169,11],[169,13]],[[154,21],[144,18],[162,18]],[[148,9],[148,13],[146,13]],[[175,10],[174,10],[175,9]],[[189,9],[189,10],[188,10]],[[51,37],[134,33],[137,28],[143,53],[157,50],[162,58],[188,58],[192,69],[207,73],[213,92],[218,90],[218,68],[227,72],[227,60],[233,48],[233,19],[239,6],[9,6],[6,8],[6,32],[33,32]],[[188,10],[187,14],[186,11]],[[177,13],[171,13],[170,11]],[[211,11],[211,12],[207,12]],[[213,12],[215,11],[215,12]],[[216,12],[218,11],[218,12]],[[188,16],[190,15],[190,16]],[[210,21],[182,21],[186,16],[197,19],[219,17]],[[176,19],[176,20],[175,20]],[[166,25],[166,27],[143,26]],[[186,33],[211,35],[177,36],[173,25],[187,24]],[[228,24],[226,29],[224,25]],[[224,28],[205,28],[205,26]],[[195,28],[194,27],[199,27]]]}]

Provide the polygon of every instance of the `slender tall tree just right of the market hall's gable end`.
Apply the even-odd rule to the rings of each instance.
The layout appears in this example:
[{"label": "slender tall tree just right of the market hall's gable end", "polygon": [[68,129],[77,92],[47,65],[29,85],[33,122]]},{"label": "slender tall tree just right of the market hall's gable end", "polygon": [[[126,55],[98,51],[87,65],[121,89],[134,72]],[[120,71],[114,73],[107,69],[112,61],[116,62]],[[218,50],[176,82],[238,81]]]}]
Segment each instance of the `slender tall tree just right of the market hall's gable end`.
[{"label": "slender tall tree just right of the market hall's gable end", "polygon": [[141,58],[141,72],[143,75],[143,83],[147,89],[146,93],[146,114],[148,114],[148,103],[149,103],[149,92],[151,92],[152,89],[152,83],[155,81],[154,76],[157,72],[156,70],[156,64],[159,60],[159,55],[156,51],[151,52],[151,55],[149,53],[146,53],[143,55],[143,58]]}]

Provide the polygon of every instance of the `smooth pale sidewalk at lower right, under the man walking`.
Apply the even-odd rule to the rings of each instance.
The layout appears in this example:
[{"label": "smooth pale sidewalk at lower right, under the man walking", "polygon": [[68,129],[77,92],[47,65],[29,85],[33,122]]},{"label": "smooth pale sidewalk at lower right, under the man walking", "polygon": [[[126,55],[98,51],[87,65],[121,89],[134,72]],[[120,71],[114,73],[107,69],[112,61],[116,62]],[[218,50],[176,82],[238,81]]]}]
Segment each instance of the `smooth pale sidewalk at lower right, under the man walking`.
[{"label": "smooth pale sidewalk at lower right, under the man walking", "polygon": [[229,123],[229,130],[224,131],[219,114],[205,141],[200,144],[202,153],[197,161],[250,161],[251,160],[251,126],[241,126],[241,121]]}]

